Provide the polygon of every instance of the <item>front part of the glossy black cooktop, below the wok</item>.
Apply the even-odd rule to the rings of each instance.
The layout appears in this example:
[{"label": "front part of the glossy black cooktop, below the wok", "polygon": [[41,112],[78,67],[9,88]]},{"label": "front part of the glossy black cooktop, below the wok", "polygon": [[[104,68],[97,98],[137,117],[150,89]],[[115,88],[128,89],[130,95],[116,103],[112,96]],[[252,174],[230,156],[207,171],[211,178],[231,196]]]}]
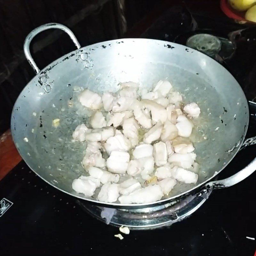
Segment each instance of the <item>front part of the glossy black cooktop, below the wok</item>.
[{"label": "front part of the glossy black cooktop, below the wok", "polygon": [[[219,178],[239,171],[255,152],[256,145],[239,152]],[[186,220],[132,230],[119,240],[117,227],[88,215],[78,199],[46,184],[22,161],[0,182],[0,199],[12,204],[0,217],[0,255],[252,256],[255,240],[246,237],[256,237],[255,179],[256,172],[213,191]]]}]

